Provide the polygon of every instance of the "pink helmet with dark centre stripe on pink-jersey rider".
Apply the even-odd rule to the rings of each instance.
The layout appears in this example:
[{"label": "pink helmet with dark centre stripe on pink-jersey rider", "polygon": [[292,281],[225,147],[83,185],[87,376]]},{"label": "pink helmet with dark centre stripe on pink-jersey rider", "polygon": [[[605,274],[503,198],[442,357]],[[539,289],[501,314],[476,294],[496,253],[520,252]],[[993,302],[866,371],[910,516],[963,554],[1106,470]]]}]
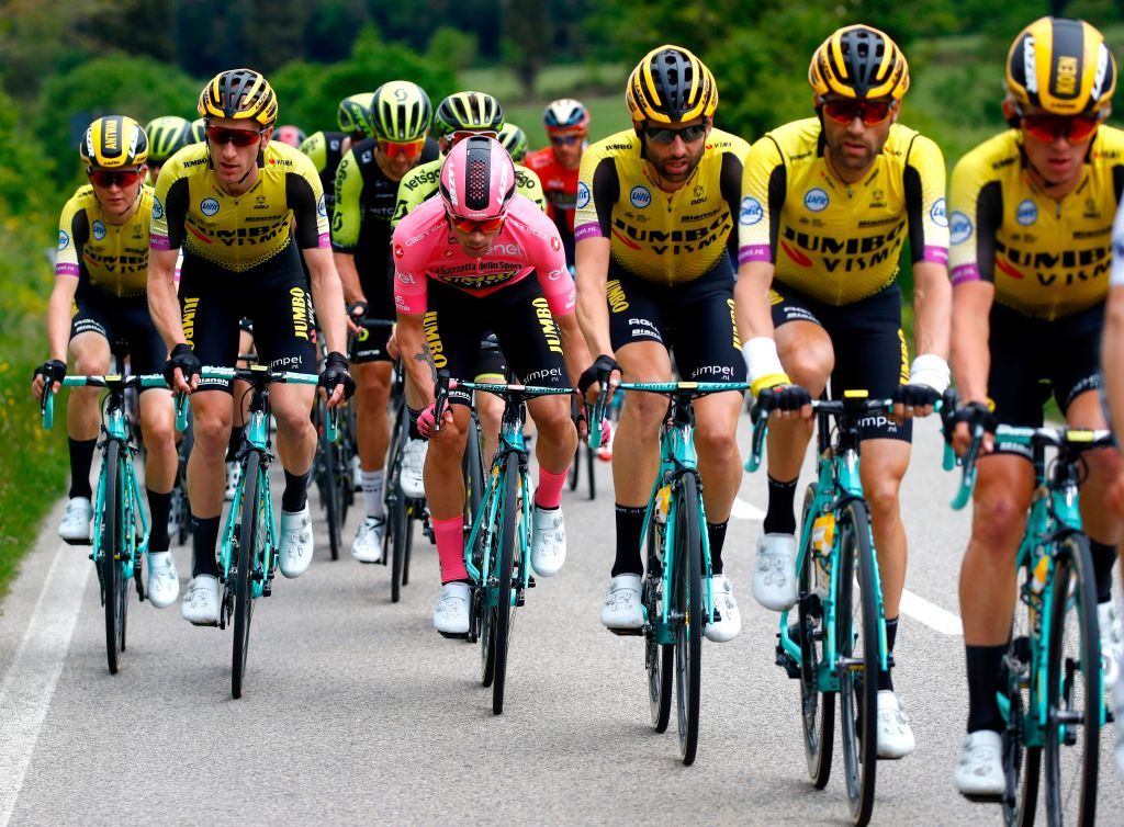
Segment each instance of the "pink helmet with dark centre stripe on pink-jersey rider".
[{"label": "pink helmet with dark centre stripe on pink-jersey rider", "polygon": [[459,142],[441,167],[441,198],[456,218],[499,218],[515,198],[515,164],[495,138],[473,135]]}]

